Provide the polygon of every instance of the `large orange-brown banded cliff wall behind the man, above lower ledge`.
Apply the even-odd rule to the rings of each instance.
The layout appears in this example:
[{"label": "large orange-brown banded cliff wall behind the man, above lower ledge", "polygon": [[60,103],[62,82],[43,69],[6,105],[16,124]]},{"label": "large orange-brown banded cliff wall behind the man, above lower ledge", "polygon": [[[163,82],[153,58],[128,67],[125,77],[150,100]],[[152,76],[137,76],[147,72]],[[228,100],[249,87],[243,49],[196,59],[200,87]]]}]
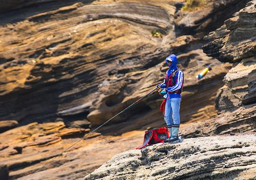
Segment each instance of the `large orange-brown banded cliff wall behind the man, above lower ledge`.
[{"label": "large orange-brown banded cliff wall behind the man, above lower ledge", "polygon": [[[3,13],[1,120],[15,119],[20,124],[62,120],[66,125],[89,120],[92,126],[98,125],[161,82],[167,70],[163,61],[170,53],[179,55],[178,66],[186,77],[182,121],[213,117],[212,100],[230,65],[206,57],[201,36],[176,32],[175,5],[169,1],[51,1]],[[222,10],[214,3],[205,11],[209,8],[216,13]],[[207,19],[203,13],[197,18]],[[152,30],[164,37],[152,37]],[[205,65],[214,71],[197,81]],[[157,99],[154,96],[113,122],[146,116],[152,110],[158,118],[161,100],[155,103]]]}]

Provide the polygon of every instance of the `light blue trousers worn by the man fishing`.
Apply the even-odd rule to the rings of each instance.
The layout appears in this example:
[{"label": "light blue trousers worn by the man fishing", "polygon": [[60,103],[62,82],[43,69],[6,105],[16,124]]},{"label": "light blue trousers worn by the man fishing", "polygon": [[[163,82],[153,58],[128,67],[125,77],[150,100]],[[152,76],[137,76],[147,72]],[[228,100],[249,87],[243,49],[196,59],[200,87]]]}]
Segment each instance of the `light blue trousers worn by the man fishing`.
[{"label": "light blue trousers worn by the man fishing", "polygon": [[165,104],[165,122],[167,126],[180,124],[180,102],[181,98],[172,98],[166,100]]}]

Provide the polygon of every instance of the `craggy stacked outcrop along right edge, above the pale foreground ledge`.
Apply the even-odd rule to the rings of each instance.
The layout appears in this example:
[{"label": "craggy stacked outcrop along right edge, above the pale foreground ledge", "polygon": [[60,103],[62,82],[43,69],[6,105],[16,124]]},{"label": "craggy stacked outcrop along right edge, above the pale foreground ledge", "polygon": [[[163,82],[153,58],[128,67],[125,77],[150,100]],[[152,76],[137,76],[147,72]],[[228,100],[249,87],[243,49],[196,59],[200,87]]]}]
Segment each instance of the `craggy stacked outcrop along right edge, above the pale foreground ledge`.
[{"label": "craggy stacked outcrop along right edge, above the pale foreground ledge", "polygon": [[[205,37],[203,50],[208,56],[222,62],[232,62],[233,67],[224,77],[225,85],[217,93],[215,106],[219,116],[199,122],[199,134],[255,132],[256,121],[256,56],[255,19],[256,1],[251,1],[234,17],[225,21],[220,29]],[[186,132],[190,130],[187,129]],[[192,133],[193,134],[193,133]],[[194,134],[198,136],[199,134]],[[208,133],[205,133],[208,134]]]}]

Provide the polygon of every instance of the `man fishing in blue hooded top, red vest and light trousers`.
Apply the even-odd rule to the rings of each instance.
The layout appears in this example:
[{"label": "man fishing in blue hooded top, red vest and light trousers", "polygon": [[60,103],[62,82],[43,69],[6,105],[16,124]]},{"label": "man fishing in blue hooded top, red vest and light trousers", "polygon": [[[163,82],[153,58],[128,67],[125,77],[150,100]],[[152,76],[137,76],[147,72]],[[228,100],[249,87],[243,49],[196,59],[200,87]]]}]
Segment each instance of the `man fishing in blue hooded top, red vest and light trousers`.
[{"label": "man fishing in blue hooded top, red vest and light trousers", "polygon": [[165,100],[161,104],[160,110],[163,111],[164,119],[169,130],[169,138],[164,142],[176,142],[179,140],[180,103],[184,74],[176,66],[176,55],[171,54],[165,61],[169,66],[169,69],[165,74],[164,83],[158,85],[160,93],[165,94]]}]

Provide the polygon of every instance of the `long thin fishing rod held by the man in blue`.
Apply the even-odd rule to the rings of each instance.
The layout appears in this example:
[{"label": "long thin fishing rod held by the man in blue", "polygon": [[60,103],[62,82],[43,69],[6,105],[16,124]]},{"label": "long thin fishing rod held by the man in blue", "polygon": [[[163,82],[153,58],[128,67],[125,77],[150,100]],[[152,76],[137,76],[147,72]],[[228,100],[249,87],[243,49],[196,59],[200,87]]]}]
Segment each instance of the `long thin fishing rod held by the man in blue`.
[{"label": "long thin fishing rod held by the man in blue", "polygon": [[[163,84],[160,84],[163,85]],[[128,107],[126,107],[124,110],[122,110],[121,112],[119,112],[118,114],[116,114],[115,116],[113,116],[112,118],[110,118],[109,120],[105,121],[103,124],[101,124],[98,128],[96,128],[95,130],[91,131],[90,133],[88,133],[87,135],[85,135],[82,139],[80,139],[79,141],[75,142],[72,146],[66,148],[62,153],[60,153],[59,155],[57,155],[56,157],[52,158],[49,162],[47,162],[45,165],[43,165],[43,167],[39,168],[38,170],[36,170],[33,174],[37,173],[39,170],[42,170],[46,165],[50,164],[52,161],[54,161],[56,158],[58,158],[59,156],[63,155],[66,151],[68,151],[69,149],[71,149],[73,146],[75,146],[77,143],[79,143],[82,140],[85,140],[86,137],[88,137],[91,133],[95,132],[96,130],[100,129],[101,127],[103,127],[107,122],[111,121],[112,119],[114,119],[116,116],[118,116],[119,114],[122,114],[123,112],[125,112],[127,109],[129,109],[130,107],[132,107],[133,105],[141,102],[141,100],[143,98],[145,98],[147,95],[150,95],[151,93],[153,93],[155,90],[158,89],[158,87],[160,86],[156,86],[155,89],[153,89],[152,91],[150,91],[149,93],[147,93],[146,95],[142,96],[140,99],[138,99],[136,102],[132,103],[131,105],[129,105]],[[155,94],[154,94],[155,95]],[[153,95],[151,95],[153,96]],[[151,97],[150,96],[150,97]],[[148,97],[148,98],[150,98]],[[147,98],[146,98],[147,99]],[[145,100],[146,100],[145,99]],[[24,180],[29,179],[33,174],[30,174],[28,177],[26,177]]]}]

